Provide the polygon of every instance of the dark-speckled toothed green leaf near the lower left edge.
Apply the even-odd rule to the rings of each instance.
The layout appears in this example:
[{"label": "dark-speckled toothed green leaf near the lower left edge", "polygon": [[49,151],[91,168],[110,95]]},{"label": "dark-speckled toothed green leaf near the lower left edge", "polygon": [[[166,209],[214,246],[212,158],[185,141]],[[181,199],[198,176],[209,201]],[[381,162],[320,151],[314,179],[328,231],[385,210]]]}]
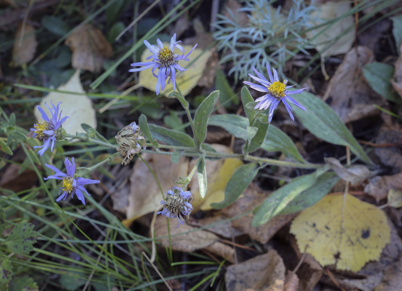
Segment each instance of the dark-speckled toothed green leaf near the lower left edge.
[{"label": "dark-speckled toothed green leaf near the lower left edge", "polygon": [[3,242],[16,254],[28,254],[33,250],[32,245],[36,242],[37,234],[32,224],[26,222],[17,224]]}]

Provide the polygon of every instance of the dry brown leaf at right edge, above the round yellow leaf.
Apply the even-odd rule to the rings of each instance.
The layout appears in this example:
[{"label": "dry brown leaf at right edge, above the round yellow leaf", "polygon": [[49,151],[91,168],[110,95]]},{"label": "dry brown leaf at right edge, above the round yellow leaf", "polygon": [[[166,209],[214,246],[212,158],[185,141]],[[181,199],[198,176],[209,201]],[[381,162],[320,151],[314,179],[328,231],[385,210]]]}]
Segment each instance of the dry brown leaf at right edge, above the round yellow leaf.
[{"label": "dry brown leaf at right edge, above the round yellow leaf", "polygon": [[392,176],[375,176],[369,179],[369,183],[364,187],[364,192],[379,202],[387,197],[390,189],[402,190],[402,173]]}]

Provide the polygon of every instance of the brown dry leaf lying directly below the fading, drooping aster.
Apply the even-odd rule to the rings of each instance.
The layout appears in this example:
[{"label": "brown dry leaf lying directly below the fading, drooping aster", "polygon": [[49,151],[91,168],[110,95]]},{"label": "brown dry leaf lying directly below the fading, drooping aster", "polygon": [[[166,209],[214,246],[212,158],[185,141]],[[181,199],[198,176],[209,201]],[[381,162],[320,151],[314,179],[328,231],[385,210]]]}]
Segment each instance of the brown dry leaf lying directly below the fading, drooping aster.
[{"label": "brown dry leaf lying directly below the fading, drooping aster", "polygon": [[[206,230],[196,230],[197,228],[187,223],[176,228],[178,224],[174,218],[169,218],[171,245],[173,250],[181,252],[193,252],[201,248],[205,248],[213,254],[222,256],[229,262],[234,262],[234,248],[219,242],[219,237],[216,234]],[[183,232],[186,234],[175,235]],[[157,216],[155,220],[155,237],[167,236],[168,227],[166,217]],[[160,242],[164,246],[169,246],[169,238],[162,238]]]}]

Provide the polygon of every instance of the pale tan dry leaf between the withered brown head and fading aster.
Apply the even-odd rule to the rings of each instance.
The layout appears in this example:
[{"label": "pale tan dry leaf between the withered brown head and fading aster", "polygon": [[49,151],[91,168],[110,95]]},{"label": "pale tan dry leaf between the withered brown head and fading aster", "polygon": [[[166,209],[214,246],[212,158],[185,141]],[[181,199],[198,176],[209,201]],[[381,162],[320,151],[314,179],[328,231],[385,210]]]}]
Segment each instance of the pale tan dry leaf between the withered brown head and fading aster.
[{"label": "pale tan dry leaf between the withered brown head and fading aster", "polygon": [[[168,155],[142,153],[141,157],[154,171],[164,193],[173,186],[180,187],[180,185],[174,183],[178,176],[187,176],[189,162],[186,157],[180,157],[177,164],[172,163]],[[160,193],[158,183],[156,183],[154,175],[152,175],[148,166],[141,159],[135,161],[130,182],[127,219],[133,221],[144,214],[161,208],[162,193]]]}]

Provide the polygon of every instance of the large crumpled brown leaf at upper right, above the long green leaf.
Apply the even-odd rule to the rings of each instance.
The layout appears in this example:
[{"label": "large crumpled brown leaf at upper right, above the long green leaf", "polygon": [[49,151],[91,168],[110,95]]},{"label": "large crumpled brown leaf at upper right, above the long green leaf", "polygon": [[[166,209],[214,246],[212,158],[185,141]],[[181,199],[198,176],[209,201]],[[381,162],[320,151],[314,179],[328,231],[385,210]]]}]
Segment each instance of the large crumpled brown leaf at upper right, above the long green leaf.
[{"label": "large crumpled brown leaf at upper right, above the long green leaf", "polygon": [[384,100],[363,76],[363,66],[373,61],[373,52],[367,47],[351,49],[328,84],[324,100],[328,98],[328,104],[345,123],[380,113],[373,104],[382,106]]}]

